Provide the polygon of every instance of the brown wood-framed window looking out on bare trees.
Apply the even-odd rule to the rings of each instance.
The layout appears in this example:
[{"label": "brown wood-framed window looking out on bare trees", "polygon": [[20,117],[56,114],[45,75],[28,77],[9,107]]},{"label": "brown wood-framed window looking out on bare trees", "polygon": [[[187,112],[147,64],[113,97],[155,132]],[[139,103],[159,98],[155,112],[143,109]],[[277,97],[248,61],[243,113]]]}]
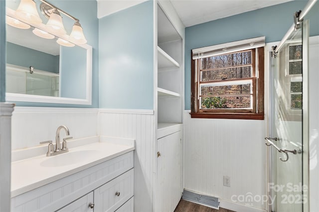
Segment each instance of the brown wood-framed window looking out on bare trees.
[{"label": "brown wood-framed window looking out on bare trees", "polygon": [[264,119],[264,47],[236,47],[193,50],[191,117]]}]

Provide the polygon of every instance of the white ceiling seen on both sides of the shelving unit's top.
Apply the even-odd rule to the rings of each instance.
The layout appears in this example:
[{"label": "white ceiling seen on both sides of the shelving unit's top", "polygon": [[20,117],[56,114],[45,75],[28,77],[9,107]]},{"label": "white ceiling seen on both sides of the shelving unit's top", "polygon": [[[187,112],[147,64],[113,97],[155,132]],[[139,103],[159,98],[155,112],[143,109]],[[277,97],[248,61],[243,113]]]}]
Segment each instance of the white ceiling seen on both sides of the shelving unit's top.
[{"label": "white ceiling seen on both sides of the shelving unit's top", "polygon": [[[146,0],[97,1],[101,18]],[[287,1],[291,0],[170,0],[186,27]]]}]

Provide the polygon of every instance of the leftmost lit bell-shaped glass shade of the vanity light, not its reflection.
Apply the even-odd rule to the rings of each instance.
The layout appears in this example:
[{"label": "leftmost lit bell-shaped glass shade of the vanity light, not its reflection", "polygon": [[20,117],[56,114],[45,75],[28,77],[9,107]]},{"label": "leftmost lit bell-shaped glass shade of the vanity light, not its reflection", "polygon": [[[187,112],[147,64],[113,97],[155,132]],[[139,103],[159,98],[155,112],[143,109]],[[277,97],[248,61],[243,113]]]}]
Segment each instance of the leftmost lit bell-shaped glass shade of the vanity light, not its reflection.
[{"label": "leftmost lit bell-shaped glass shade of the vanity light, not its reflection", "polygon": [[21,0],[15,11],[16,16],[28,23],[42,23],[34,0]]}]

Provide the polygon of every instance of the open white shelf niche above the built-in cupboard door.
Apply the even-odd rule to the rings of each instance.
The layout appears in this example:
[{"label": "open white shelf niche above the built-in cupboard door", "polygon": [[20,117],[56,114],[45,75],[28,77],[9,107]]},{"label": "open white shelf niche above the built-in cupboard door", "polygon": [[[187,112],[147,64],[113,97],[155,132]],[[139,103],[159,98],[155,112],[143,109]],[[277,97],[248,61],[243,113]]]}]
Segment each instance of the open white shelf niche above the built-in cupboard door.
[{"label": "open white shelf niche above the built-in cupboard door", "polygon": [[182,129],[182,38],[158,5],[157,138]]}]

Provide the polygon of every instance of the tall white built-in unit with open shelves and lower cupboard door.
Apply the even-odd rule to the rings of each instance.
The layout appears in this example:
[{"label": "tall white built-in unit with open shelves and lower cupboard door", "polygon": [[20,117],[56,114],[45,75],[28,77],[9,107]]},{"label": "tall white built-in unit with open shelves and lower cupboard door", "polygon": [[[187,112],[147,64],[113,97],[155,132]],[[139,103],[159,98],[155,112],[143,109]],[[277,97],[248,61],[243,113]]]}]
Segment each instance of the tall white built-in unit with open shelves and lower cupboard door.
[{"label": "tall white built-in unit with open shelves and lower cupboard door", "polygon": [[[154,44],[156,182],[153,211],[174,211],[182,196],[184,27],[168,0],[157,0]],[[157,85],[156,85],[157,84]],[[174,185],[174,186],[171,186]]]}]

